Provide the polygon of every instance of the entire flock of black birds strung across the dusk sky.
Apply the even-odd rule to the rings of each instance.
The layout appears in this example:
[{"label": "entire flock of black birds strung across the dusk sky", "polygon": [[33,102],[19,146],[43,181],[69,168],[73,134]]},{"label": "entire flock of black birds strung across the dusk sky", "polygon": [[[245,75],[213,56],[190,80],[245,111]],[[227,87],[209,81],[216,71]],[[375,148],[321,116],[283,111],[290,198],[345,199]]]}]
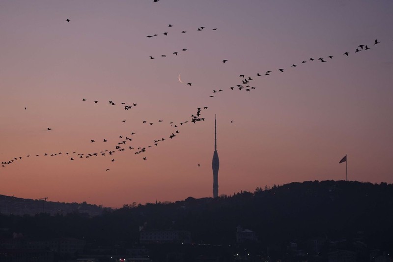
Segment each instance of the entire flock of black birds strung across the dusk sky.
[{"label": "entire flock of black birds strung across the dusk sky", "polygon": [[[154,0],[154,2],[157,2],[157,1],[159,1],[159,0]],[[67,19],[65,21],[67,23],[69,23],[71,20]],[[171,28],[173,26],[169,24],[168,27]],[[203,29],[205,29],[205,28],[204,27],[200,27],[197,30],[201,31]],[[213,30],[217,30],[217,29],[214,28]],[[181,33],[186,33],[186,31],[182,31]],[[168,32],[163,32],[162,34],[168,35]],[[149,38],[155,37],[155,36],[158,36],[158,34],[147,35],[147,37],[149,37]],[[380,42],[377,39],[375,39],[375,41],[373,42],[373,45],[376,45],[376,44],[379,44],[379,43]],[[366,50],[369,50],[369,49],[371,49],[371,48],[368,45],[361,44],[361,45],[359,45],[356,48],[354,53],[359,53],[361,51],[366,51]],[[182,51],[187,51],[187,49],[183,49]],[[343,53],[343,55],[347,56],[347,57],[349,57],[350,54],[351,54],[351,52]],[[178,52],[173,52],[173,55],[177,56]],[[166,55],[162,55],[162,57],[166,57]],[[312,61],[318,61],[318,60],[320,62],[327,62],[328,60],[333,59],[333,58],[334,58],[334,56],[328,56],[327,58],[308,58],[306,60],[301,61],[300,63],[293,63],[292,65],[290,65],[290,67],[297,67],[300,64],[304,64],[304,63],[312,62]],[[154,57],[150,57],[150,59],[154,59]],[[225,63],[227,61],[228,61],[227,59],[222,60],[223,63]],[[247,92],[250,92],[251,90],[255,89],[255,87],[251,86],[251,82],[253,81],[253,79],[255,77],[261,77],[261,76],[267,77],[267,76],[272,75],[274,72],[277,72],[277,73],[281,74],[281,73],[284,72],[284,70],[287,70],[287,69],[286,68],[272,69],[272,70],[267,70],[265,73],[259,73],[258,72],[256,74],[254,74],[253,76],[246,76],[245,74],[240,74],[239,77],[241,78],[241,83],[239,83],[237,85],[234,85],[232,87],[229,87],[229,89],[230,90],[238,89],[238,90],[245,90]],[[192,83],[187,83],[187,85],[192,86]],[[222,91],[224,91],[224,90],[223,89],[213,90],[213,93],[216,94],[216,93],[220,93]],[[210,95],[209,97],[214,97],[214,96],[215,95]],[[87,99],[83,98],[82,101],[83,102],[87,101]],[[99,101],[98,100],[93,100],[93,103],[98,104]],[[113,102],[112,100],[109,100],[108,104],[111,105],[111,106],[116,105],[116,103]],[[125,103],[125,102],[121,102],[120,105],[122,105],[124,107],[124,110],[130,110],[131,108],[136,107],[137,103],[129,103],[128,104],[128,103]],[[178,130],[178,127],[181,127],[183,125],[190,124],[190,123],[194,123],[195,124],[195,123],[197,123],[199,121],[204,121],[205,118],[201,117],[201,113],[202,113],[203,110],[206,110],[207,108],[208,107],[206,107],[206,106],[197,108],[196,113],[191,115],[191,118],[188,118],[188,119],[186,119],[184,121],[177,122],[177,123],[175,123],[173,121],[169,122],[169,124],[173,128],[173,132],[171,132],[171,134],[168,135],[167,139],[171,140],[171,139],[175,138],[180,133],[180,131]],[[25,107],[25,110],[26,109],[27,109],[27,107]],[[125,121],[126,120],[122,120],[122,122],[125,122]],[[159,120],[157,120],[157,122],[161,123],[161,122],[164,122],[164,120],[159,119]],[[233,122],[233,120],[231,122]],[[156,122],[154,122],[154,121],[153,122],[150,122],[150,121],[148,122],[147,120],[143,120],[142,121],[142,124],[147,124],[147,125],[150,125],[150,126],[152,126],[154,123],[156,123]],[[51,127],[47,127],[47,131],[51,131],[51,130],[52,130]],[[166,138],[160,137],[160,138],[152,140],[150,145],[138,146],[135,149],[135,146],[132,145],[135,142],[135,140],[134,140],[135,139],[135,135],[136,135],[135,132],[129,132],[126,135],[121,134],[121,135],[118,136],[118,140],[114,141],[112,146],[108,146],[107,147],[108,149],[101,150],[99,152],[80,153],[80,152],[75,152],[74,151],[74,152],[65,152],[64,154],[65,155],[69,155],[69,157],[70,157],[69,160],[70,161],[74,161],[76,159],[88,159],[88,158],[91,158],[91,157],[98,157],[98,156],[103,156],[103,157],[104,156],[109,156],[110,162],[115,162],[115,158],[114,158],[113,155],[115,155],[118,152],[122,152],[122,151],[125,151],[127,149],[128,151],[129,150],[134,150],[134,153],[136,155],[139,155],[139,154],[145,153],[149,148],[151,148],[153,146],[159,146],[164,141],[167,141]],[[100,140],[101,140],[101,143],[105,143],[105,144],[110,143],[109,140],[106,139],[106,138],[101,138]],[[98,143],[98,140],[90,139],[89,143]],[[60,156],[60,155],[64,155],[64,154],[60,151],[60,152],[56,152],[56,153],[47,153],[47,152],[45,152],[43,154],[34,154],[34,155],[35,155],[35,157],[40,157],[40,156],[43,156],[43,157],[55,157],[55,156]],[[30,156],[31,155],[26,155],[27,158],[30,157]],[[15,163],[16,161],[21,161],[22,159],[24,159],[23,156],[14,157],[12,159],[8,159],[6,161],[2,161],[1,165],[2,165],[2,167],[6,167],[7,165]],[[142,160],[147,160],[147,157],[146,156],[142,156]],[[197,164],[197,166],[199,167],[200,164]],[[106,169],[106,171],[110,171],[110,169],[108,168],[108,169]]]}]

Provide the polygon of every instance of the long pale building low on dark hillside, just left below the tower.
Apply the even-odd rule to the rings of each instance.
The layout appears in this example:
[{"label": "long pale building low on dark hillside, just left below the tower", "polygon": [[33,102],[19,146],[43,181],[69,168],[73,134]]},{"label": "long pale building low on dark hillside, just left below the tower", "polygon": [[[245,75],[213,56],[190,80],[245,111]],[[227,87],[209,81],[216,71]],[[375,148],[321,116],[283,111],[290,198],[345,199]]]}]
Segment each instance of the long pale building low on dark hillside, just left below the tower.
[{"label": "long pale building low on dark hillside, just left below the tower", "polygon": [[139,241],[143,243],[191,243],[188,231],[141,231]]}]

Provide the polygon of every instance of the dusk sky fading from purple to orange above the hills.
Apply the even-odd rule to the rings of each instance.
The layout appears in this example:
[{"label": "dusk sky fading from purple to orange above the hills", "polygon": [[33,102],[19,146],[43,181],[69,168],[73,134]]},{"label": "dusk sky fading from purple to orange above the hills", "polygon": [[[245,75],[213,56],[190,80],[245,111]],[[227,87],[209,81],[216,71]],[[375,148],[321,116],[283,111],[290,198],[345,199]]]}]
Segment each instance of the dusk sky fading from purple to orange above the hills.
[{"label": "dusk sky fading from purple to orange above the hills", "polygon": [[392,13],[391,0],[1,0],[0,194],[212,197],[215,115],[219,195],[343,180],[345,155],[348,180],[392,183]]}]

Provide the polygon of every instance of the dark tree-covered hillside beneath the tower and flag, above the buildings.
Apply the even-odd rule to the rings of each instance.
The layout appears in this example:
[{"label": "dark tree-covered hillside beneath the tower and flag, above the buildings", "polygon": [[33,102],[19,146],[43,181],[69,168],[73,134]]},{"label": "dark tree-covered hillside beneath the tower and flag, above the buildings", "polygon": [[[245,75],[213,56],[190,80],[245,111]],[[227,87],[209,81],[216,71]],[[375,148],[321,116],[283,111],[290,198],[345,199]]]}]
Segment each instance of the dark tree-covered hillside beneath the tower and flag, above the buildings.
[{"label": "dark tree-covered hillside beneath the tower and flag, above the buildings", "polygon": [[252,230],[263,247],[309,239],[361,239],[369,249],[393,247],[393,185],[356,181],[293,182],[217,199],[126,204],[87,218],[0,215],[2,237],[75,237],[90,245],[131,246],[143,230],[190,231],[195,243],[231,244],[236,227]]}]

